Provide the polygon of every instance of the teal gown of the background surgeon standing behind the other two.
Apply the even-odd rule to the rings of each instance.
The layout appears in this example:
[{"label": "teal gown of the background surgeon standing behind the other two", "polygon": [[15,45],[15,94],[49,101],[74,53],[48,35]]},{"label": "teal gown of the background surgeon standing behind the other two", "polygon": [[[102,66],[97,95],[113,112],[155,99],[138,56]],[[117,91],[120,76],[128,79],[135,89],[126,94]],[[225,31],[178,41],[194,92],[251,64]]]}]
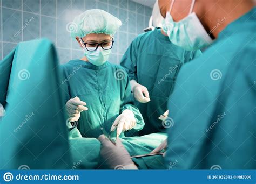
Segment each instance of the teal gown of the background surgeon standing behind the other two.
[{"label": "teal gown of the background surgeon standing behind the other two", "polygon": [[165,129],[158,117],[167,110],[177,73],[183,63],[199,55],[201,51],[188,52],[173,45],[160,29],[140,34],[132,41],[120,65],[126,69],[130,80],[136,80],[149,91],[150,102],[134,101],[145,122],[141,135]]}]

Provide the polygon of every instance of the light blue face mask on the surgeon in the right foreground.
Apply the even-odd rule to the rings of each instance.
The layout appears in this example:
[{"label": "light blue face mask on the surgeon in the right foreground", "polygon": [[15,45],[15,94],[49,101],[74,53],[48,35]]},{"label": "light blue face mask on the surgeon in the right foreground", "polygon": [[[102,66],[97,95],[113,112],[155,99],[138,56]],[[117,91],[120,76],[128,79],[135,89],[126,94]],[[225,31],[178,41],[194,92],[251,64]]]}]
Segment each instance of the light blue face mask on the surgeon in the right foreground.
[{"label": "light blue face mask on the surgeon in the right foreground", "polygon": [[212,39],[208,36],[201,24],[196,13],[191,13],[195,0],[192,1],[190,14],[179,22],[174,22],[170,13],[174,0],[171,4],[169,12],[166,13],[163,21],[163,30],[168,35],[170,41],[187,51],[200,49],[212,43]]}]

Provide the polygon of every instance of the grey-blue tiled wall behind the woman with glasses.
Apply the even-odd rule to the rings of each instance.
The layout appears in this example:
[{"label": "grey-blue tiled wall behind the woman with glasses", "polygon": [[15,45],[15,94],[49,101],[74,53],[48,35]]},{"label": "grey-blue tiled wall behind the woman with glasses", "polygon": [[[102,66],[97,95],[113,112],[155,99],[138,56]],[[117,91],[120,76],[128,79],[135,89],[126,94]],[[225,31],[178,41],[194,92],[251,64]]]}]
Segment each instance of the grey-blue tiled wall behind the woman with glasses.
[{"label": "grey-blue tiled wall behind the woman with glasses", "polygon": [[110,61],[119,63],[131,41],[148,26],[152,9],[128,0],[0,0],[1,55],[3,59],[19,41],[46,37],[58,51],[61,63],[80,59],[82,49],[66,25],[88,9],[103,9],[122,20],[114,36]]}]

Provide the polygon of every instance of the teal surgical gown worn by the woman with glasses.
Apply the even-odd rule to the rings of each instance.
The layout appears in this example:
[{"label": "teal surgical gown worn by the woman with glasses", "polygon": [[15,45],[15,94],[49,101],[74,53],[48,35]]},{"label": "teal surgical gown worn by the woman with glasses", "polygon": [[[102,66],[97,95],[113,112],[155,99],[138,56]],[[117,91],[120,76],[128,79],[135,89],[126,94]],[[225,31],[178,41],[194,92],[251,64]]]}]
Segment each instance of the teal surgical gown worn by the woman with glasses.
[{"label": "teal surgical gown worn by the woman with glasses", "polygon": [[[77,122],[83,137],[98,138],[102,134],[100,128],[110,133],[112,123],[125,109],[133,111],[137,122],[125,135],[132,136],[143,128],[142,115],[132,104],[129,77],[122,67],[109,62],[96,66],[82,60],[71,60],[62,67],[65,77],[62,84],[69,91],[65,101],[77,96],[87,103],[88,110],[81,112]],[[112,136],[116,136],[116,131]],[[124,137],[123,133],[120,136]]]}]

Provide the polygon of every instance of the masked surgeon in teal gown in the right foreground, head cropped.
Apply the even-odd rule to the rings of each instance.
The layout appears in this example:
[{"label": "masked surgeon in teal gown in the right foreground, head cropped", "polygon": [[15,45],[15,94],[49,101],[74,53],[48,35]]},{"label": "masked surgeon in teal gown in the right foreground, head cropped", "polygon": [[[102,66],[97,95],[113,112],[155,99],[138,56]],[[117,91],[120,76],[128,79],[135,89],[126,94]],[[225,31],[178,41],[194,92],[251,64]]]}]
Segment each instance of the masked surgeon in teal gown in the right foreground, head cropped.
[{"label": "masked surgeon in teal gown in the right foreground, head cropped", "polygon": [[[166,168],[256,169],[255,2],[170,1],[169,5],[165,23],[173,29],[164,27],[171,41],[186,49],[208,48],[181,68],[170,96],[169,118],[174,123],[168,131]],[[188,6],[190,13],[183,11]],[[189,26],[182,30],[183,24]],[[102,150],[105,146],[111,147],[102,141]],[[111,147],[113,151],[118,148]],[[119,152],[126,160],[118,164],[131,163],[125,155]]]}]

